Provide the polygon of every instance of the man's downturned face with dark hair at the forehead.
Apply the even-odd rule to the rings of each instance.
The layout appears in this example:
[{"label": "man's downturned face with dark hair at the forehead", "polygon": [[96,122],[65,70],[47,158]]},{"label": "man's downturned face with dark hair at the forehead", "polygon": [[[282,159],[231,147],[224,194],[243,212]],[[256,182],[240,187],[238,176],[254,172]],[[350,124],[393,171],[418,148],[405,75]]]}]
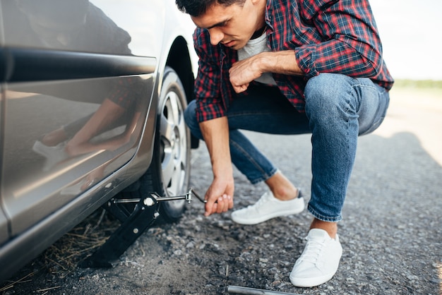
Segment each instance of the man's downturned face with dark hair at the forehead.
[{"label": "man's downturned face with dark hair at the forehead", "polygon": [[259,1],[246,0],[244,6],[214,4],[203,15],[191,17],[199,28],[209,30],[210,43],[224,44],[232,49],[241,49],[249,42],[253,32],[263,26],[263,9]]}]

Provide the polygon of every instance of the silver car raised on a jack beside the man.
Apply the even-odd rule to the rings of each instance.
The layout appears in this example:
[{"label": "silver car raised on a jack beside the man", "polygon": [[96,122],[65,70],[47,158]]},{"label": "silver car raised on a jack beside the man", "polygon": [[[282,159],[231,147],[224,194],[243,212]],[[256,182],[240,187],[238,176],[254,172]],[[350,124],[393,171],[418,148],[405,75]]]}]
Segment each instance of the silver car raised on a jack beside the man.
[{"label": "silver car raised on a jack beside the man", "polygon": [[173,0],[0,0],[0,281],[100,206],[186,193],[189,22]]}]

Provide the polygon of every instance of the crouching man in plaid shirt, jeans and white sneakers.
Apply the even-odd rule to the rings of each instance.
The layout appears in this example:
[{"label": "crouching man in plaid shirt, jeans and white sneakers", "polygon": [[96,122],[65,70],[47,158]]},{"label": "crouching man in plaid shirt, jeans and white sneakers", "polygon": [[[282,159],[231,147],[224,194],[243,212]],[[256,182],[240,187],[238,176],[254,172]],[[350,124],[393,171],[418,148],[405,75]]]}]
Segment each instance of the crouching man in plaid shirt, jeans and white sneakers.
[{"label": "crouching man in plaid shirt, jeans and white sneakers", "polygon": [[[213,182],[205,215],[233,207],[232,164],[270,191],[232,213],[256,224],[304,209],[299,190],[239,132],[312,133],[313,222],[290,281],[323,284],[338,270],[357,137],[386,114],[393,85],[367,0],[177,0],[197,28],[196,101],[186,109],[205,140]],[[296,161],[294,151],[292,161]]]}]

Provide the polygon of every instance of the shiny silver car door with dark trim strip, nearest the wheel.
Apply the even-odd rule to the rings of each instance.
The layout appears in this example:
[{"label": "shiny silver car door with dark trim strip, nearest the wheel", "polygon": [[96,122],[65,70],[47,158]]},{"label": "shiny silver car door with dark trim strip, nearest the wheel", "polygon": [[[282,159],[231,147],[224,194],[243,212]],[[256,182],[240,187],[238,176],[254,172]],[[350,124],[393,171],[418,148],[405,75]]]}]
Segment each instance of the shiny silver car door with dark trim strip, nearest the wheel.
[{"label": "shiny silver car door with dark trim strip, nearest the wheel", "polygon": [[[162,14],[143,1],[0,4],[1,199],[15,236],[103,179],[111,179],[107,189],[124,181],[115,172],[141,140]],[[129,11],[138,17],[123,15]]]}]

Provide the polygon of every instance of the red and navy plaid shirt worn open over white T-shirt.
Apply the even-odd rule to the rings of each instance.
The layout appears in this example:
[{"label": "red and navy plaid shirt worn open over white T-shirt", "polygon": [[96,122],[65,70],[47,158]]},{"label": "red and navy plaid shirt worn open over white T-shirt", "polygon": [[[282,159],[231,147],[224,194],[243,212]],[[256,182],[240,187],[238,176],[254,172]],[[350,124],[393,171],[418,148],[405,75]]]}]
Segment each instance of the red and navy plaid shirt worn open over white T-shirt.
[{"label": "red and navy plaid shirt worn open over white T-shirt", "polygon": [[[371,78],[386,90],[393,86],[368,0],[268,0],[265,23],[268,47],[273,52],[294,50],[304,72],[304,76],[273,73],[277,87],[299,112],[305,112],[306,81],[319,73]],[[196,28],[193,40],[199,57],[197,120],[225,116],[232,100],[247,95],[235,93],[229,82],[237,51],[211,45],[205,29]]]}]

